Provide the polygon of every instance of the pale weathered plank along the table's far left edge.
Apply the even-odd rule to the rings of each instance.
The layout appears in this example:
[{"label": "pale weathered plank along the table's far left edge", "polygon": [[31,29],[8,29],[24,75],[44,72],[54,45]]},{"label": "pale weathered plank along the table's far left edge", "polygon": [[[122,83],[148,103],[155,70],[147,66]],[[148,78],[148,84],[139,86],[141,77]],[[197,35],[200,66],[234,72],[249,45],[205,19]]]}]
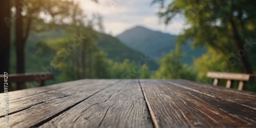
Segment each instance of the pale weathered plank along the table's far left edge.
[{"label": "pale weathered plank along the table's far left edge", "polygon": [[[99,81],[78,80],[74,82],[59,83],[54,86],[49,86],[44,88],[35,88],[31,90],[26,90],[26,91],[23,90],[23,91],[10,92],[9,93],[10,98],[8,99],[8,102],[9,102],[8,113],[9,115],[11,115],[13,113],[28,109],[31,106],[34,106],[36,104],[44,103],[49,100],[65,97],[65,96],[83,91],[81,90],[81,87],[87,86],[87,84],[92,84],[96,82],[102,83],[102,81],[100,80]],[[71,86],[71,85],[74,85],[74,86]],[[40,90],[43,90],[43,89],[46,89],[48,91],[36,93],[36,92],[40,92]],[[19,94],[23,94],[20,92],[23,92],[26,95],[20,97]],[[4,102],[1,102],[0,105],[4,107]],[[0,110],[0,113],[4,113],[4,112],[5,112],[4,109]],[[3,117],[3,115],[0,115],[0,117]]]}]

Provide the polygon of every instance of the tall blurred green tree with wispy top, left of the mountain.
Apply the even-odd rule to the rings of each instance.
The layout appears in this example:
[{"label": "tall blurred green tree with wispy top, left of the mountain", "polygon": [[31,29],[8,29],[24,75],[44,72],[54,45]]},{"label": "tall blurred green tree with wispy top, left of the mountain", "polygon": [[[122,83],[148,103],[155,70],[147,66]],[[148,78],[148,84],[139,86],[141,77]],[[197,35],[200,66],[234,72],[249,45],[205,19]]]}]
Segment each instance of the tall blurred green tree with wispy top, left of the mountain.
[{"label": "tall blurred green tree with wispy top, left of the mountain", "polygon": [[[78,5],[79,3],[74,3],[69,12],[71,22],[62,29],[67,33],[66,37],[46,40],[45,44],[56,51],[53,59],[56,63],[54,68],[60,71],[65,70],[63,73],[73,71],[71,73],[73,79],[92,78],[95,74],[93,66],[97,65],[94,62],[97,57],[94,55],[99,52],[94,27],[101,26],[101,21],[99,15],[92,19],[86,18]],[[44,42],[41,43],[44,44]]]}]

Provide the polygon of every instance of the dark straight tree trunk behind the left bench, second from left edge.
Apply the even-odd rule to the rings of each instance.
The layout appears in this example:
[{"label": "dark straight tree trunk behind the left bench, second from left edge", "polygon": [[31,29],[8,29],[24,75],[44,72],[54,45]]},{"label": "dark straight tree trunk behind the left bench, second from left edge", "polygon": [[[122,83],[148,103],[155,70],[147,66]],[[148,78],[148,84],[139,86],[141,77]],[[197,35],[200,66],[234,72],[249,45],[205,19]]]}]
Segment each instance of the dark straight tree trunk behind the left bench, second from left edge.
[{"label": "dark straight tree trunk behind the left bench, second from left edge", "polygon": [[[23,7],[23,1],[17,0],[15,2],[16,4],[16,26],[15,26],[15,32],[16,32],[16,72],[17,73],[25,73],[25,59],[24,59],[24,45],[25,45],[25,39],[23,38],[23,16],[22,16],[22,7]],[[17,83],[17,90],[25,89],[25,83],[24,82],[18,82]]]}]

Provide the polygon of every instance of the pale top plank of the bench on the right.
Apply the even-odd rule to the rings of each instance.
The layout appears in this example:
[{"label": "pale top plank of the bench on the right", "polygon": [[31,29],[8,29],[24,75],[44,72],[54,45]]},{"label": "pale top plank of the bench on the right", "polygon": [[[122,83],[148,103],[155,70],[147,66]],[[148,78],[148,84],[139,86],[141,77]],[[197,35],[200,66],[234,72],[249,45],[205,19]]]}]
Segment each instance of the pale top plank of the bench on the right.
[{"label": "pale top plank of the bench on the right", "polygon": [[242,81],[255,80],[255,75],[243,74],[243,73],[207,72],[207,77],[217,78],[217,79],[242,80]]}]

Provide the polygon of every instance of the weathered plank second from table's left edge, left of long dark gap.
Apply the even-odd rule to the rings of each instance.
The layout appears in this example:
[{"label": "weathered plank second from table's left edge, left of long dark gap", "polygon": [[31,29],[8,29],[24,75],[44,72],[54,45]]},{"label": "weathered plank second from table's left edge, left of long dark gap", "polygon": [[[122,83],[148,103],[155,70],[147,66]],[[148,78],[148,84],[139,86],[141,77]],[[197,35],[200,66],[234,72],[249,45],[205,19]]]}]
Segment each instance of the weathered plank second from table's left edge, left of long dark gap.
[{"label": "weathered plank second from table's left edge, left of long dark gap", "polygon": [[[33,105],[26,110],[10,115],[8,126],[31,127],[36,124],[47,122],[92,95],[112,86],[115,82],[117,82],[117,80],[99,80],[99,82],[88,84],[87,86],[78,86],[80,87],[80,92],[47,100],[46,102]],[[70,84],[70,86],[76,85]],[[47,99],[48,96],[41,98]],[[2,121],[0,122],[0,125],[5,125],[5,123]]]}]

